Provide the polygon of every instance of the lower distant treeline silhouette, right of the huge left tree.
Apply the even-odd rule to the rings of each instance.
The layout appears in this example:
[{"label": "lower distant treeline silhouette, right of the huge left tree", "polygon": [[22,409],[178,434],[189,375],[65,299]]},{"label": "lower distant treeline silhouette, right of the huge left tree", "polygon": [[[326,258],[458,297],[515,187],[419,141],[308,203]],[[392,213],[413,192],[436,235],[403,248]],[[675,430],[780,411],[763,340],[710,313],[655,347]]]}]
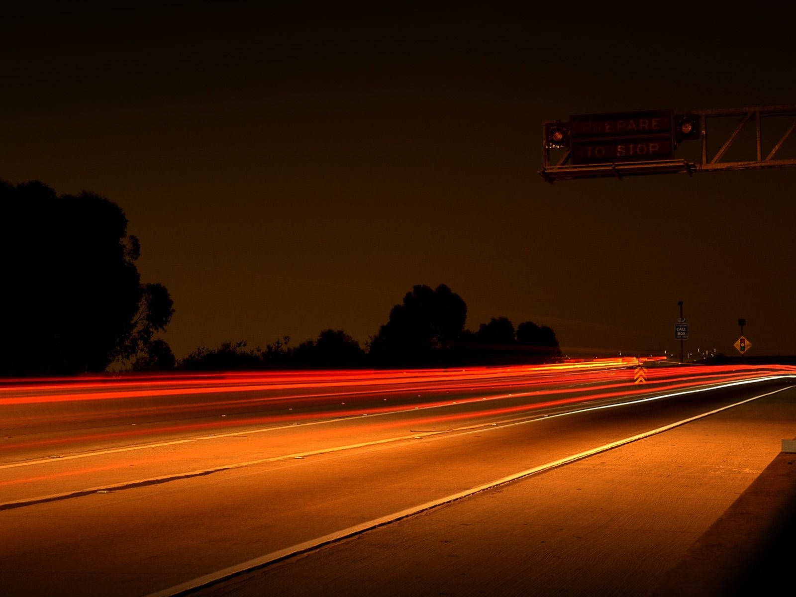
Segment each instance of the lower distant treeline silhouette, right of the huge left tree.
[{"label": "lower distant treeline silhouette, right of the huge left tree", "polygon": [[389,320],[362,347],[343,330],[323,330],[315,340],[290,345],[283,337],[264,349],[245,341],[201,347],[176,364],[189,371],[453,367],[555,361],[561,356],[548,326],[505,317],[466,330],[467,306],[444,284],[412,288],[392,307]]}]

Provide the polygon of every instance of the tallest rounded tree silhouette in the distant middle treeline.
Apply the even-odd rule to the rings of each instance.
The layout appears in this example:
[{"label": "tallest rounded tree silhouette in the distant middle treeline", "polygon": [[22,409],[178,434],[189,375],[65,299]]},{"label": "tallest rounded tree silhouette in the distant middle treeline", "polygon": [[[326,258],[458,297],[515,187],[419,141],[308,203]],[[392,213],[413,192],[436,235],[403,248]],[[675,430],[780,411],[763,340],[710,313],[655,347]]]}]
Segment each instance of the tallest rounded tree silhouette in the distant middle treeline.
[{"label": "tallest rounded tree silhouette in the distant middle treeline", "polygon": [[449,287],[418,285],[392,307],[388,322],[370,341],[369,354],[381,364],[439,363],[447,344],[464,330],[466,318],[466,303]]}]

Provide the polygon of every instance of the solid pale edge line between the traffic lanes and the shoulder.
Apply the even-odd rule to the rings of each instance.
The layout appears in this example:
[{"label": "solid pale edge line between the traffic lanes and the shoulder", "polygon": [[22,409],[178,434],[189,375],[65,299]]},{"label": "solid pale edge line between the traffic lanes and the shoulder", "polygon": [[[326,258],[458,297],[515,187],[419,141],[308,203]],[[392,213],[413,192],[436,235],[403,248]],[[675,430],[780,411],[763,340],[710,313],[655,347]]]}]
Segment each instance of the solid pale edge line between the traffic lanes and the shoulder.
[{"label": "solid pale edge line between the traffic lanes and the shoulder", "polygon": [[[736,385],[736,383],[730,385]],[[146,597],[179,597],[179,595],[188,595],[193,591],[197,591],[204,587],[209,587],[210,585],[223,582],[224,580],[231,579],[235,576],[240,576],[241,574],[245,574],[246,572],[253,572],[259,568],[264,568],[269,564],[274,564],[279,560],[286,560],[289,557],[297,556],[302,552],[310,552],[313,551],[314,549],[318,549],[325,545],[335,543],[339,540],[347,539],[348,537],[353,537],[355,535],[365,533],[365,531],[376,529],[377,527],[388,525],[392,522],[400,521],[403,518],[414,516],[415,514],[424,512],[425,510],[436,508],[443,504],[449,504],[451,503],[451,501],[457,501],[462,499],[463,497],[469,497],[471,495],[478,494],[482,491],[490,490],[493,489],[494,487],[504,485],[505,483],[517,481],[517,479],[529,477],[533,474],[539,474],[544,472],[545,470],[550,470],[558,466],[564,466],[565,464],[576,462],[577,460],[582,460],[583,458],[599,454],[600,452],[613,450],[614,448],[624,446],[627,443],[637,442],[639,439],[645,439],[650,437],[651,435],[657,435],[659,433],[663,433],[664,431],[669,431],[674,427],[680,427],[681,425],[685,425],[686,423],[691,423],[697,419],[703,419],[706,416],[715,415],[717,412],[726,411],[729,408],[735,408],[736,406],[740,406],[741,404],[746,404],[747,402],[751,402],[752,400],[758,400],[759,398],[764,398],[765,396],[771,396],[772,394],[782,392],[786,389],[790,388],[779,388],[778,390],[774,390],[773,392],[767,392],[765,394],[760,394],[759,396],[753,396],[751,398],[747,398],[746,400],[741,400],[740,402],[736,402],[735,404],[728,404],[727,406],[716,408],[715,410],[712,410],[710,412],[704,412],[700,415],[689,417],[688,419],[682,419],[681,421],[677,421],[676,423],[669,423],[669,425],[664,425],[663,427],[657,427],[657,429],[653,429],[651,431],[645,431],[643,433],[639,433],[638,435],[633,435],[625,439],[618,439],[615,442],[606,443],[603,446],[595,447],[592,448],[591,450],[579,452],[578,454],[573,454],[571,456],[565,456],[564,458],[553,460],[552,462],[548,462],[547,464],[534,466],[533,468],[530,468],[528,470],[523,470],[519,473],[509,474],[508,476],[496,479],[495,481],[484,483],[483,485],[473,487],[469,490],[460,491],[458,492],[458,494],[452,494],[446,497],[441,497],[436,500],[427,501],[424,504],[403,509],[400,510],[399,512],[395,512],[392,514],[387,514],[386,516],[383,517],[374,518],[371,521],[362,522],[359,525],[349,526],[347,529],[341,529],[339,531],[336,531],[334,533],[329,533],[322,537],[310,539],[299,544],[291,545],[290,547],[287,548],[279,549],[275,552],[267,553],[264,556],[259,556],[257,558],[253,558],[252,560],[247,560],[245,562],[241,562],[240,564],[236,564],[234,566],[229,566],[228,568],[224,568],[223,570],[219,570],[217,572],[211,572],[210,574],[206,574],[205,576],[200,576],[196,579],[188,580],[185,583],[180,583],[178,585],[175,585],[174,587],[170,587],[162,591],[157,591],[155,593],[150,593],[150,595],[147,595]],[[692,392],[678,392],[678,393],[692,393]],[[520,423],[514,423],[514,424],[520,424]]]}]

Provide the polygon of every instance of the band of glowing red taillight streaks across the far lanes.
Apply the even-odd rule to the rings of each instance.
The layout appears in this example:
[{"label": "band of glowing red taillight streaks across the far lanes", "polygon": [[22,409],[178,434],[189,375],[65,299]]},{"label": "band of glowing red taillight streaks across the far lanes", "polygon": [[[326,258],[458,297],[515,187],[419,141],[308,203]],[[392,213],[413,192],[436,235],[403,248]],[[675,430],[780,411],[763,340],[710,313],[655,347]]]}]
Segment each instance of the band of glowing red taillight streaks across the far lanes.
[{"label": "band of glowing red taillight streaks across the far lanes", "polygon": [[[400,412],[402,403],[416,408],[475,401],[528,399],[524,405],[494,407],[493,414],[522,412],[620,395],[668,392],[730,380],[793,373],[785,366],[650,367],[646,384],[633,383],[638,359],[622,357],[556,365],[422,369],[417,371],[301,371],[198,375],[79,377],[57,380],[0,381],[0,416],[4,430],[15,435],[58,424],[118,420],[170,423],[158,433],[196,432],[232,425],[298,423],[357,415]],[[600,390],[588,386],[599,385]],[[470,397],[461,396],[470,393]],[[572,396],[572,397],[567,397]],[[384,403],[384,404],[379,404]],[[62,406],[59,406],[62,405]],[[347,408],[341,408],[347,407]],[[508,410],[506,410],[508,409]],[[484,413],[482,412],[482,415]],[[466,415],[461,415],[466,417]],[[204,419],[201,422],[197,419]],[[225,419],[225,420],[221,420]],[[127,423],[135,426],[134,423]],[[81,440],[145,439],[146,428],[85,433],[80,437],[30,439],[31,445],[63,445]],[[3,439],[10,439],[4,434]]]}]

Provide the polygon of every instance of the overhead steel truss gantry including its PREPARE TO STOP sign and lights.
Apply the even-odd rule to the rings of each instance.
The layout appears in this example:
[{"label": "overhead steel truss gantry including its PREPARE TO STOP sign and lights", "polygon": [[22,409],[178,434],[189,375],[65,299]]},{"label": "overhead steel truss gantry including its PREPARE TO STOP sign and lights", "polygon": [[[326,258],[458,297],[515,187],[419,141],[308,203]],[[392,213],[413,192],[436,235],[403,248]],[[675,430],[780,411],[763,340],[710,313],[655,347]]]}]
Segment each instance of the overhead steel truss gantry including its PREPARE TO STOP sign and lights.
[{"label": "overhead steel truss gantry including its PREPARE TO STOP sign and lights", "polygon": [[[750,123],[754,128],[747,126]],[[796,166],[794,129],[796,105],[572,115],[568,120],[543,123],[544,158],[539,174],[552,183]],[[772,143],[770,135],[778,140]],[[725,139],[718,150],[712,145],[714,139]],[[701,146],[687,141],[701,141]]]}]

